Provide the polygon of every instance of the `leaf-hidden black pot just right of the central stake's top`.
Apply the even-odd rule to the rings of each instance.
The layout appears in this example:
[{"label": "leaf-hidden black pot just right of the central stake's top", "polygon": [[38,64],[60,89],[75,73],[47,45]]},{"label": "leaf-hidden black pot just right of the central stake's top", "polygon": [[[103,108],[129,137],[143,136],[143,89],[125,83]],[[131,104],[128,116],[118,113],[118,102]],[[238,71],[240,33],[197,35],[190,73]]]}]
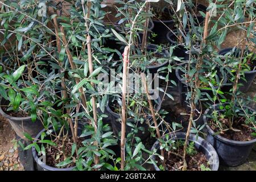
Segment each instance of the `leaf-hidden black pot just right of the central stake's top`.
[{"label": "leaf-hidden black pot just right of the central stake's top", "polygon": [[[156,51],[157,46],[155,44],[148,44],[147,51]],[[168,56],[168,52],[164,49],[162,52],[159,52],[159,55],[162,55],[163,57]],[[164,61],[162,64],[156,64],[156,65],[148,65],[146,69],[152,74],[158,73],[158,69],[164,67],[168,63],[168,60]]]}]

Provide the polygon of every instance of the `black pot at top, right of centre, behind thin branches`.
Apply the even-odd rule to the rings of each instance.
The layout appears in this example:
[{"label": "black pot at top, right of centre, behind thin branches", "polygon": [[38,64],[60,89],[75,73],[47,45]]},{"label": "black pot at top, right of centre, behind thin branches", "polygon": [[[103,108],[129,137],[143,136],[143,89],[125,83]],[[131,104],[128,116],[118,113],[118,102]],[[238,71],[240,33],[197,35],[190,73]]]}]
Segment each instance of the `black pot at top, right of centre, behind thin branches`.
[{"label": "black pot at top, right of centre, behind thin branches", "polygon": [[166,34],[174,27],[174,20],[172,20],[171,12],[172,11],[169,9],[164,9],[164,13],[170,14],[169,20],[152,20],[155,25],[152,30],[156,34],[156,37],[154,38],[155,44],[168,43],[168,40],[166,39]]}]

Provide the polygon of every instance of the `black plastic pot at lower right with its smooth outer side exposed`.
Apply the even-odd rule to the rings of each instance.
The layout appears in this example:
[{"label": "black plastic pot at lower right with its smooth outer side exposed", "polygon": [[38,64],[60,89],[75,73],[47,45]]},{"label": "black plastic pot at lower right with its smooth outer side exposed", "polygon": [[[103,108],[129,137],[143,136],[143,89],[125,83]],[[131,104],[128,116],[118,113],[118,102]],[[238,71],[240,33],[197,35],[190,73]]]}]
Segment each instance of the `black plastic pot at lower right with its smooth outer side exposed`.
[{"label": "black plastic pot at lower right with its smooth outer side exposed", "polygon": [[[254,111],[249,107],[246,108],[252,112]],[[253,146],[256,143],[256,138],[249,137],[249,130],[242,129],[243,126],[236,126],[238,127],[238,129],[242,129],[241,132],[237,131],[236,134],[234,134],[233,132],[218,135],[214,134],[216,133],[216,130],[210,124],[211,122],[209,118],[209,116],[212,115],[213,110],[217,110],[218,113],[224,112],[224,110],[220,109],[220,105],[213,105],[205,111],[204,123],[207,128],[207,141],[211,143],[216,149],[222,164],[226,166],[239,166],[245,163]],[[213,131],[213,129],[215,131]]]}]

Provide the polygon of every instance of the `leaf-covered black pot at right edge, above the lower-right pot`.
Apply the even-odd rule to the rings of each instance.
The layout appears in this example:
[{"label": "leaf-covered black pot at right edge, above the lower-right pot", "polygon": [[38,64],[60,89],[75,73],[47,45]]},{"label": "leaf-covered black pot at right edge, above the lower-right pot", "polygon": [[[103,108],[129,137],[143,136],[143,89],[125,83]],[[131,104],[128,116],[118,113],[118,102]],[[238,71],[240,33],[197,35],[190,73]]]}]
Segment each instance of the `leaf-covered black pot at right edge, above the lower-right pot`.
[{"label": "leaf-covered black pot at right edge, above the lower-right pot", "polygon": [[[232,51],[232,49],[233,48],[222,49],[220,52],[218,52],[218,54],[224,56],[224,55],[230,53]],[[235,49],[236,57],[239,56],[240,51],[241,51],[240,49]],[[238,81],[238,84],[242,84],[242,86],[239,88],[240,92],[246,93],[250,89],[250,86],[253,83],[255,76],[256,76],[256,70],[245,72],[245,80],[246,81],[242,80],[242,79],[240,79]],[[226,86],[225,90],[227,90],[227,91],[230,90],[232,88],[232,85]]]}]

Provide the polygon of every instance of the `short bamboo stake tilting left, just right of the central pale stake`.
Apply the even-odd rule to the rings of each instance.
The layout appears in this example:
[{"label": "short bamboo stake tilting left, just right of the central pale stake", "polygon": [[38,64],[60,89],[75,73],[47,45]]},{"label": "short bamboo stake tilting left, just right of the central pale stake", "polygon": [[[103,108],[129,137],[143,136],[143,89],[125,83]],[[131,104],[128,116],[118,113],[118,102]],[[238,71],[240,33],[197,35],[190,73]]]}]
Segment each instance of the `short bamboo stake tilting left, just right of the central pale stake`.
[{"label": "short bamboo stake tilting left, just right of the central pale stake", "polygon": [[[150,105],[150,112],[152,114],[152,118],[153,118],[153,121],[154,121],[156,134],[158,135],[158,139],[160,140],[161,139],[161,135],[160,135],[159,127],[158,127],[158,122],[156,121],[156,118],[155,118],[154,107],[152,105],[152,101],[150,100],[150,94],[148,93],[147,81],[146,81],[145,73],[141,73],[141,79],[142,79],[142,84],[144,86],[145,92],[147,94],[147,100],[148,100],[148,104]],[[162,143],[160,143],[160,145],[162,145]],[[163,167],[165,167],[166,163],[164,162],[164,151],[163,151],[163,149],[160,150],[160,151],[161,151],[161,155],[163,157]]]}]

